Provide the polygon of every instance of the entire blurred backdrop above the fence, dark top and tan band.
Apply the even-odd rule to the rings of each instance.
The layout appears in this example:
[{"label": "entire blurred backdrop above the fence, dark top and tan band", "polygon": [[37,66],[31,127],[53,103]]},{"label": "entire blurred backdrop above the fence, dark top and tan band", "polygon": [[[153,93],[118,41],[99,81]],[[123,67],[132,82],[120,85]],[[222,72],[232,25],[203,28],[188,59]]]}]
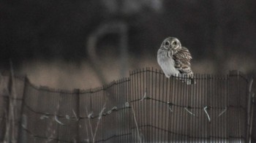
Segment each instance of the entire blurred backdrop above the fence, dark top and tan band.
[{"label": "entire blurred backdrop above the fence, dark top and tan band", "polygon": [[157,50],[175,36],[195,73],[256,69],[256,1],[0,1],[0,71],[36,85],[96,88],[129,71],[159,69]]}]

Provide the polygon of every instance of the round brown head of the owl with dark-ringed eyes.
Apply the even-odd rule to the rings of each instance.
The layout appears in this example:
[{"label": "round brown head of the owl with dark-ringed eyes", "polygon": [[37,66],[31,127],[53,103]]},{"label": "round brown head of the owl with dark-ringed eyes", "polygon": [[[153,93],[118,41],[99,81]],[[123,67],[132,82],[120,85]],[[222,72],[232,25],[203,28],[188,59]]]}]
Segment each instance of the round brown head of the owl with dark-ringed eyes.
[{"label": "round brown head of the owl with dark-ringed eyes", "polygon": [[161,47],[164,47],[166,50],[181,50],[181,42],[175,37],[167,37],[163,42]]}]

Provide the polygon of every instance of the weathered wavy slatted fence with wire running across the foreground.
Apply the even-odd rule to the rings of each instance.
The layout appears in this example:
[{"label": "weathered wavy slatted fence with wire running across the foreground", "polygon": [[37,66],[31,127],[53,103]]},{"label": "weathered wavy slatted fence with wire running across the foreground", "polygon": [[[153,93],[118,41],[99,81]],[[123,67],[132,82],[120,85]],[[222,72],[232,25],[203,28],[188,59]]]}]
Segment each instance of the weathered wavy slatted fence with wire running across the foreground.
[{"label": "weathered wavy slatted fence with wire running across the foreground", "polygon": [[246,75],[195,80],[187,85],[146,68],[101,88],[70,91],[1,76],[0,141],[249,142],[255,119]]}]

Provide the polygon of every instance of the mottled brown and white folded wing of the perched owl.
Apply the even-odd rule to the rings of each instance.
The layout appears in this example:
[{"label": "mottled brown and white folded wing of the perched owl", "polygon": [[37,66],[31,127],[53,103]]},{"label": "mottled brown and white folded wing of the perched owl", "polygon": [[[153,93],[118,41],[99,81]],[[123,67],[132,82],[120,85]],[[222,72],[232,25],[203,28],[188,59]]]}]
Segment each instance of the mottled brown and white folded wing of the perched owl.
[{"label": "mottled brown and white folded wing of the perched owl", "polygon": [[192,59],[192,56],[187,47],[181,47],[181,50],[173,55],[173,59],[175,61],[176,69],[178,69],[181,74],[192,74],[190,67],[190,60]]}]

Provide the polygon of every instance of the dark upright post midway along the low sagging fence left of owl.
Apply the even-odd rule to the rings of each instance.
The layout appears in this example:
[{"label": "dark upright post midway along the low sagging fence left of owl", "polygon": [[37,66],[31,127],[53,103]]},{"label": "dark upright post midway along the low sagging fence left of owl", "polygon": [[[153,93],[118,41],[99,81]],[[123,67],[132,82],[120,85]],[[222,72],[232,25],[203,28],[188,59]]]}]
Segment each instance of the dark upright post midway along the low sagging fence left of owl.
[{"label": "dark upright post midway along the low sagging fence left of owl", "polygon": [[74,89],[76,104],[76,115],[77,119],[77,142],[80,142],[80,89]]}]

